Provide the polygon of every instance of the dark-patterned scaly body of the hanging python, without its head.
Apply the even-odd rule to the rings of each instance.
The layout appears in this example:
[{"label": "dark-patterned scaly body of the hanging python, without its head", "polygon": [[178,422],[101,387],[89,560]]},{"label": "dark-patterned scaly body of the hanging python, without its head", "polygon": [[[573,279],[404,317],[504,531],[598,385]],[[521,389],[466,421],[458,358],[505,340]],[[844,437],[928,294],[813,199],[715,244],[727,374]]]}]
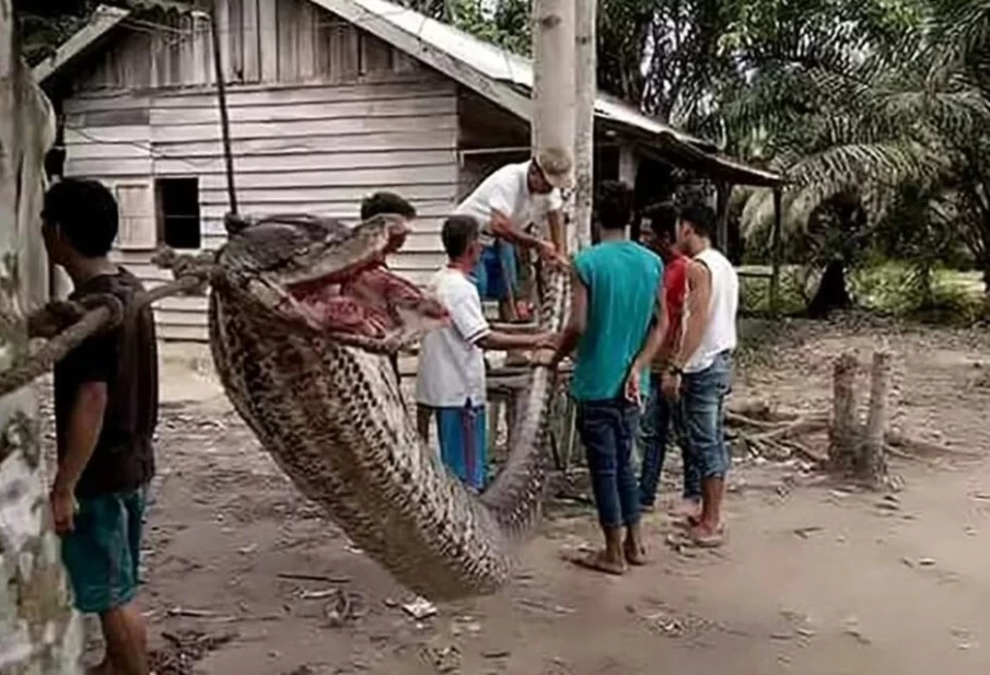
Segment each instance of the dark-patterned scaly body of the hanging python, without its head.
[{"label": "dark-patterned scaly body of the hanging python, without its head", "polygon": [[[223,251],[217,263],[233,265]],[[559,330],[568,276],[546,271],[540,281],[541,327]],[[384,356],[272,327],[263,314],[214,275],[209,333],[218,372],[292,482],[421,595],[445,601],[503,585],[540,512],[555,374],[531,371],[509,461],[479,496],[419,441]]]}]

